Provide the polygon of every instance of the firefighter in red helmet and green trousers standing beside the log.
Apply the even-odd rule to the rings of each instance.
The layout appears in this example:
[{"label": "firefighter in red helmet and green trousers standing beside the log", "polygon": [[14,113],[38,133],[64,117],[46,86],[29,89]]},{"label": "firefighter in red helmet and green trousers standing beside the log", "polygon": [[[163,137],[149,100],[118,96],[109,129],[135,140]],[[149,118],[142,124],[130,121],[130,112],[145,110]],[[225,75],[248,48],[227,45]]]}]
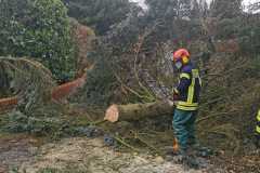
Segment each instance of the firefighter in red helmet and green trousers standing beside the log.
[{"label": "firefighter in red helmet and green trousers standing beside the log", "polygon": [[198,69],[191,62],[187,50],[176,51],[173,53],[173,64],[180,72],[179,83],[173,90],[173,101],[176,103],[172,120],[176,136],[173,151],[186,155],[187,149],[196,145],[195,120],[202,80]]}]

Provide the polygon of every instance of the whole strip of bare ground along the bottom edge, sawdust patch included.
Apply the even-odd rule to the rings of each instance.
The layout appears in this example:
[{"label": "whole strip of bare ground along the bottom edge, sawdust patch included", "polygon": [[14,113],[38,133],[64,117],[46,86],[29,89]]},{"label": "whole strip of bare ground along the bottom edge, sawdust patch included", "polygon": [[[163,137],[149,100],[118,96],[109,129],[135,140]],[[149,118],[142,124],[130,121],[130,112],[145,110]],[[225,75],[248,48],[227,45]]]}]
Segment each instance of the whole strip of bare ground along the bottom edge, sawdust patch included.
[{"label": "whole strip of bare ground along the bottom edge, sawdust patch included", "polygon": [[186,169],[150,154],[119,152],[103,137],[64,138],[44,144],[28,135],[0,135],[0,173],[257,173],[259,154],[244,158],[211,158],[213,165]]}]

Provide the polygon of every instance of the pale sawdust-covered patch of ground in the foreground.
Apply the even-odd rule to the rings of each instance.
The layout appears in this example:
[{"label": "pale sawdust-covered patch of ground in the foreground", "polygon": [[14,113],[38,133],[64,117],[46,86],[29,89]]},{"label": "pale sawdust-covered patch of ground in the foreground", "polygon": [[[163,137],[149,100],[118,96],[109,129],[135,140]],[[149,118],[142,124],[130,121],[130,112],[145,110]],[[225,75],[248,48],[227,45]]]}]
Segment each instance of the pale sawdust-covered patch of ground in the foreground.
[{"label": "pale sawdust-covered patch of ground in the foreground", "polygon": [[106,147],[102,138],[67,138],[41,147],[40,155],[23,163],[21,172],[65,173],[203,173],[150,155],[122,154]]}]

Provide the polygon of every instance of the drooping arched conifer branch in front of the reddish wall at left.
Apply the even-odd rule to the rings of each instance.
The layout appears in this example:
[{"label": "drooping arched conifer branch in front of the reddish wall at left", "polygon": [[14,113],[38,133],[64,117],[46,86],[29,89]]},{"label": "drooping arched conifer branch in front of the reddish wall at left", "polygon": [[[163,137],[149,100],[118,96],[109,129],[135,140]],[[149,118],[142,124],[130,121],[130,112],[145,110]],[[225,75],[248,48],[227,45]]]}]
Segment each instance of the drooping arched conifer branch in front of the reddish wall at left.
[{"label": "drooping arched conifer branch in front of the reddish wall at left", "polygon": [[27,58],[0,56],[0,78],[8,79],[4,90],[18,97],[20,110],[31,112],[50,99],[54,82],[50,70],[42,64]]}]

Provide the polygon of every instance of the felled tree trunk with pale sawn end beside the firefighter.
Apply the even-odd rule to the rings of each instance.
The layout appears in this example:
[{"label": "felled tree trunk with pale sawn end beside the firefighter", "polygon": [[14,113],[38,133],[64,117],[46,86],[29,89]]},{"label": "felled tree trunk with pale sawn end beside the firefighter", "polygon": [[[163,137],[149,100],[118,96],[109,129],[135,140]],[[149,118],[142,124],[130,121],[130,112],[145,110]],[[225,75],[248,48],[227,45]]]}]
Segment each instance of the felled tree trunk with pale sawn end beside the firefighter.
[{"label": "felled tree trunk with pale sawn end beside the firefighter", "polygon": [[112,105],[105,114],[105,120],[110,122],[121,120],[140,120],[143,118],[170,115],[173,106],[168,102],[147,104]]}]

